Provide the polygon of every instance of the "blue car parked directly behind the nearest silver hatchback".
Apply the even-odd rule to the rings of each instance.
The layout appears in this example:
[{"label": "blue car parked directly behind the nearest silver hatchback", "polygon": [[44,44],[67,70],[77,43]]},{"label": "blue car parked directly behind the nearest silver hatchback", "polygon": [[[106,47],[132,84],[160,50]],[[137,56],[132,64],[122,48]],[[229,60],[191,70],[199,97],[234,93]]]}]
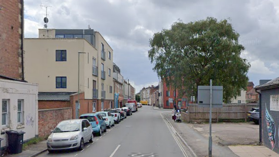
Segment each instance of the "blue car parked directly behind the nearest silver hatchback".
[{"label": "blue car parked directly behind the nearest silver hatchback", "polygon": [[103,118],[99,113],[86,113],[80,116],[80,119],[89,120],[92,125],[93,133],[102,135],[102,132],[107,132],[106,119]]}]

